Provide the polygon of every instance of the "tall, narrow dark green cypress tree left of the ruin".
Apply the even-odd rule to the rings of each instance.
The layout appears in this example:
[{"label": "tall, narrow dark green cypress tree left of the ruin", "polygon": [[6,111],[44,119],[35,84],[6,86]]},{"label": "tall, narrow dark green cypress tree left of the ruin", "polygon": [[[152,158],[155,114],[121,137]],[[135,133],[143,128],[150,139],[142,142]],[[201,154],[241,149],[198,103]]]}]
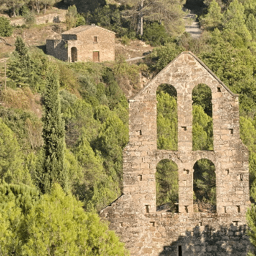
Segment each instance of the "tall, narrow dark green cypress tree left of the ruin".
[{"label": "tall, narrow dark green cypress tree left of the ruin", "polygon": [[58,183],[65,188],[64,173],[64,121],[61,118],[59,100],[59,76],[56,67],[50,65],[47,72],[47,85],[44,97],[44,115],[42,117],[44,140],[42,152],[42,170],[39,174],[39,189],[50,192],[52,184]]}]

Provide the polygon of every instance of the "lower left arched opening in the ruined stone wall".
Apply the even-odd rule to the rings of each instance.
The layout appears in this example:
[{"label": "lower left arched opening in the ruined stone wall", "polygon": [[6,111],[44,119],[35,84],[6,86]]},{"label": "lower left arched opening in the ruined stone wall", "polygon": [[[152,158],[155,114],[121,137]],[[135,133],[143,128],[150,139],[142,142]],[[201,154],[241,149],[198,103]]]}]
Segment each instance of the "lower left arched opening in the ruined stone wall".
[{"label": "lower left arched opening in the ruined stone wall", "polygon": [[162,159],[156,172],[157,211],[178,212],[178,166],[170,159]]}]

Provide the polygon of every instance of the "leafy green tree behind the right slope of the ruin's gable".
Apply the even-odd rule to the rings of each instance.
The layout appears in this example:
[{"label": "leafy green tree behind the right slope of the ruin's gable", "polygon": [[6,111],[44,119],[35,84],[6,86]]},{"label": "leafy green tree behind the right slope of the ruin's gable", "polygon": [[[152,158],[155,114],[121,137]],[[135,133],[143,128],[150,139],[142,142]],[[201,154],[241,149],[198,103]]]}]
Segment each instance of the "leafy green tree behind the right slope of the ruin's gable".
[{"label": "leafy green tree behind the right slope of the ruin's gable", "polygon": [[[209,40],[211,50],[201,53],[200,59],[226,86],[234,93],[240,94],[241,112],[254,113],[256,59],[252,52],[244,47],[242,39],[239,43],[236,40],[238,35],[232,31],[229,32],[223,34],[224,32],[215,29]],[[232,37],[233,34],[236,34],[236,37]]]}]

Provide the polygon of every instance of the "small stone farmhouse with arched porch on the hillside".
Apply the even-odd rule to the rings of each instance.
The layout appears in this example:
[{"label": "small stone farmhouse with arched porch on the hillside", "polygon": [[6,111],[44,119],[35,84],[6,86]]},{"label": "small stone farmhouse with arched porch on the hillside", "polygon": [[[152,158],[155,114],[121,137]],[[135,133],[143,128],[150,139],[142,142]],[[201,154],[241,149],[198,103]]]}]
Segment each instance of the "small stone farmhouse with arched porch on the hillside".
[{"label": "small stone farmhouse with arched porch on the hillside", "polygon": [[61,39],[47,39],[46,53],[62,61],[114,61],[115,33],[92,24],[64,31]]}]

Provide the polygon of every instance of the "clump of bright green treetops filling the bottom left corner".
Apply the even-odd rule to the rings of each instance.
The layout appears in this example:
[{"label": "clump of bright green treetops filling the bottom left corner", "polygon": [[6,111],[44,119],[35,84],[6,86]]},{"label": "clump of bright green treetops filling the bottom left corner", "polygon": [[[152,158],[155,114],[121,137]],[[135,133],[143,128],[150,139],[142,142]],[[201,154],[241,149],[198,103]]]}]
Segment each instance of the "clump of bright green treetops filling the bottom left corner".
[{"label": "clump of bright green treetops filling the bottom left corner", "polygon": [[97,214],[55,184],[49,194],[0,186],[0,255],[127,255]]}]

